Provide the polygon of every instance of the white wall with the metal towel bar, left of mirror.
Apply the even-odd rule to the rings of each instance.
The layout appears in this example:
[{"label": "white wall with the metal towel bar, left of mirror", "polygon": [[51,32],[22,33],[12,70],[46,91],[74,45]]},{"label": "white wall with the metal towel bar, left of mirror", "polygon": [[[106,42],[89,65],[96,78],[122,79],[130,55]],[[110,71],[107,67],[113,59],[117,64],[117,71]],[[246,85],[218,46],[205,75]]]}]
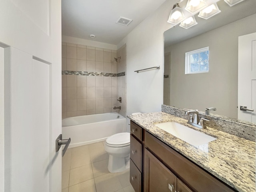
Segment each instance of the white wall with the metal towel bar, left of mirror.
[{"label": "white wall with the metal towel bar, left of mirror", "polygon": [[[127,53],[127,115],[133,112],[161,111],[164,82],[164,31],[173,0],[167,0],[152,15],[148,16],[119,44],[126,43]],[[160,66],[160,70],[134,72]]]}]

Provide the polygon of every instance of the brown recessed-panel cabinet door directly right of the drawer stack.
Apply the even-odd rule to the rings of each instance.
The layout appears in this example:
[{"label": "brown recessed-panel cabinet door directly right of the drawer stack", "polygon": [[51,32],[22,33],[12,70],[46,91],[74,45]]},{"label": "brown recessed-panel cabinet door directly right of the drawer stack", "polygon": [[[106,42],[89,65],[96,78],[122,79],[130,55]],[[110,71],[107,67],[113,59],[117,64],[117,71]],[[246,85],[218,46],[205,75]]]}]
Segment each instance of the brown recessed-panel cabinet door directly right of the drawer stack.
[{"label": "brown recessed-panel cabinet door directly right of the drawer stack", "polygon": [[145,192],[174,192],[176,176],[145,149]]}]

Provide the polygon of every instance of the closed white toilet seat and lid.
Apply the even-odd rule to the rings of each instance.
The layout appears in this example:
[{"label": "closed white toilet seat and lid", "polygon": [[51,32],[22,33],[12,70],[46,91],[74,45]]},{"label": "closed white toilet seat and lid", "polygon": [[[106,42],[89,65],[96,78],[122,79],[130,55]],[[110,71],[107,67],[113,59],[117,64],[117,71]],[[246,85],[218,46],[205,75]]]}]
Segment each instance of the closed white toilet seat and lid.
[{"label": "closed white toilet seat and lid", "polygon": [[130,133],[117,133],[106,139],[106,145],[110,147],[125,147],[130,145]]}]

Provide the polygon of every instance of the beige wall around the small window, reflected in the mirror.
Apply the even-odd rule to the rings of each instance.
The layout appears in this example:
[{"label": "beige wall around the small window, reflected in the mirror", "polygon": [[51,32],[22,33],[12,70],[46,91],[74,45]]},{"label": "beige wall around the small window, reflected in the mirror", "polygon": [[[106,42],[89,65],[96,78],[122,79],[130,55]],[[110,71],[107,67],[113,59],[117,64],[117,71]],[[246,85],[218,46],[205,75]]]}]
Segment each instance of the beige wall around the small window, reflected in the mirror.
[{"label": "beige wall around the small window, reflected in the mirror", "polygon": [[[238,36],[256,31],[256,14],[173,45],[171,105],[237,118]],[[185,52],[209,46],[209,72],[185,75]]]}]

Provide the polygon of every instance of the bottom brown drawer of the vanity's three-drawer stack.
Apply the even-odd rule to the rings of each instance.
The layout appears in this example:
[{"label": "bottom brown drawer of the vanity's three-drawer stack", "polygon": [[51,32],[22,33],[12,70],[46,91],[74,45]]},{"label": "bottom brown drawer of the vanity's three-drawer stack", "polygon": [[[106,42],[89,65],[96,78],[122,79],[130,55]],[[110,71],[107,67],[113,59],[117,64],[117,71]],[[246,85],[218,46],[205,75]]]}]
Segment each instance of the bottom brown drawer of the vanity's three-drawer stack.
[{"label": "bottom brown drawer of the vanity's three-drawer stack", "polygon": [[132,161],[130,161],[130,183],[135,192],[141,192],[141,173]]}]

